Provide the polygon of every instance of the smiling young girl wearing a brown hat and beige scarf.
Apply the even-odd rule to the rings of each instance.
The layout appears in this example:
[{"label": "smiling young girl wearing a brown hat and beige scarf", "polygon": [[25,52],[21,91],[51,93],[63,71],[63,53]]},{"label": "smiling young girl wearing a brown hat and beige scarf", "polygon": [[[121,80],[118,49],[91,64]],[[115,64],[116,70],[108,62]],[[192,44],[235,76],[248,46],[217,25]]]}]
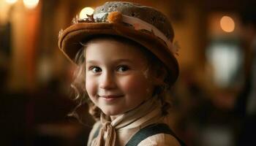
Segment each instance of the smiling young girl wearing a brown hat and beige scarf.
[{"label": "smiling young girl wearing a brown hat and beige scarf", "polygon": [[178,63],[165,15],[112,1],[73,22],[59,47],[77,64],[72,86],[97,120],[88,145],[184,145],[166,124]]}]

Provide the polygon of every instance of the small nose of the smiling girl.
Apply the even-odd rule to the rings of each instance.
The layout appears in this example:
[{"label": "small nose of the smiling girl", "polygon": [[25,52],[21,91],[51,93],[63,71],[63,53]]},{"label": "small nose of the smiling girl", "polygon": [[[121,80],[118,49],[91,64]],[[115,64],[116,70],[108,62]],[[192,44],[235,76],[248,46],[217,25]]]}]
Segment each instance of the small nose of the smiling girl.
[{"label": "small nose of the smiling girl", "polygon": [[116,88],[116,80],[113,74],[110,72],[105,72],[101,75],[99,81],[99,88],[102,89],[113,89]]}]

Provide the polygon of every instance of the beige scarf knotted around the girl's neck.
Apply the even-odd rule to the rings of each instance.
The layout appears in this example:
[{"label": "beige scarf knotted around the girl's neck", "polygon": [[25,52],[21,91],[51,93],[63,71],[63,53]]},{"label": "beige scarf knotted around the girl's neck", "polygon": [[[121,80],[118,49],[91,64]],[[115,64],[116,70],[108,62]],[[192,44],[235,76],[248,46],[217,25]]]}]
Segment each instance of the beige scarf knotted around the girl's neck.
[{"label": "beige scarf knotted around the girl's neck", "polygon": [[102,113],[100,120],[102,127],[99,130],[97,140],[93,141],[91,146],[114,146],[116,145],[116,130],[123,128],[136,120],[142,118],[152,110],[156,109],[159,104],[156,104],[157,98],[151,98],[144,101],[135,109],[125,112],[119,115],[113,121],[110,120],[110,116]]}]

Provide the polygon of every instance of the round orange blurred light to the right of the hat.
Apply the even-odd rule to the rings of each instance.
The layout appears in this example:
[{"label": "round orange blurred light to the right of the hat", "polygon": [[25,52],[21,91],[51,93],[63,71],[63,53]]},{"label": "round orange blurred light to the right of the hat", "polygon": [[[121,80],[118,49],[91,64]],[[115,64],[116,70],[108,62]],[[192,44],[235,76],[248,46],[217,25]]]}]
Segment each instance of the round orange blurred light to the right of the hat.
[{"label": "round orange blurred light to the right of the hat", "polygon": [[235,29],[235,22],[229,16],[223,16],[220,20],[220,26],[223,31],[232,32]]}]

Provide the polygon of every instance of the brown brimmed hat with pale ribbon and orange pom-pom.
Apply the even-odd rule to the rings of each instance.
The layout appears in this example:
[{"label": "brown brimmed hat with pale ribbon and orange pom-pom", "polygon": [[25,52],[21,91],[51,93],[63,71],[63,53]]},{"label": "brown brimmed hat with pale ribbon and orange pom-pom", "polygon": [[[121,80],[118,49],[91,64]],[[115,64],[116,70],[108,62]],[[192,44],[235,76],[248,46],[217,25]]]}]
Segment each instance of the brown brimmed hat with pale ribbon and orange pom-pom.
[{"label": "brown brimmed hat with pale ribbon and orange pom-pom", "polygon": [[95,35],[115,35],[137,42],[157,56],[168,69],[170,84],[178,77],[174,56],[173,28],[167,17],[152,7],[131,2],[110,1],[97,7],[88,18],[72,20],[59,33],[59,48],[74,63],[82,43]]}]

